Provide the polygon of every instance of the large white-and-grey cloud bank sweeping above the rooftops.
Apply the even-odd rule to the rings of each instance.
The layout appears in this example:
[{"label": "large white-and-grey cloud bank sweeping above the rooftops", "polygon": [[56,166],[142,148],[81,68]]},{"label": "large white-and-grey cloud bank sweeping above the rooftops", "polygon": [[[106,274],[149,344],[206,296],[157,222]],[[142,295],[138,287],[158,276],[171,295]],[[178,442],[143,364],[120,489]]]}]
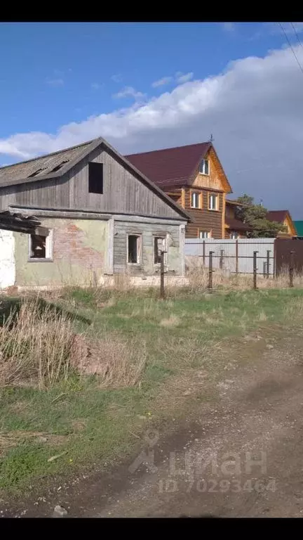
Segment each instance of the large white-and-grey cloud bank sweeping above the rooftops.
[{"label": "large white-and-grey cloud bank sweeping above the rooftops", "polygon": [[[302,47],[295,52],[303,65]],[[97,136],[131,153],[205,141],[213,133],[233,196],[247,192],[272,210],[289,208],[303,219],[302,91],[292,51],[271,51],[145,103],[63,125],[54,134],[12,134],[0,139],[0,154],[5,162],[8,156],[21,160]]]}]

